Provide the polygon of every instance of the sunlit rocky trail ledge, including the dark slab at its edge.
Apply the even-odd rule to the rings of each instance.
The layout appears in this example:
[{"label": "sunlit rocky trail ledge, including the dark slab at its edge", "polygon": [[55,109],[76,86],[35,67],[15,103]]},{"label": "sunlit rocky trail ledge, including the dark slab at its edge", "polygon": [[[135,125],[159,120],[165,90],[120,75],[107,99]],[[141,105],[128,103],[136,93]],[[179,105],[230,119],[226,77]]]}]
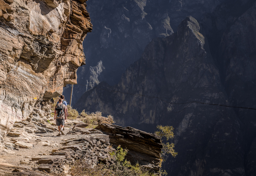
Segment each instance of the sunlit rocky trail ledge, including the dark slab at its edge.
[{"label": "sunlit rocky trail ledge, including the dark slab at its edge", "polygon": [[[129,149],[126,159],[132,164],[138,162],[150,170],[160,169],[161,137],[118,125],[99,124],[96,129],[87,126],[80,120],[68,119],[64,135],[59,137],[56,124],[46,118],[32,116],[15,123],[4,137],[5,147],[0,155],[5,157],[0,159],[0,175],[44,175],[40,171],[68,175],[77,162],[87,167],[98,163],[116,165],[113,153],[119,145]],[[15,165],[11,165],[14,160]]]}]

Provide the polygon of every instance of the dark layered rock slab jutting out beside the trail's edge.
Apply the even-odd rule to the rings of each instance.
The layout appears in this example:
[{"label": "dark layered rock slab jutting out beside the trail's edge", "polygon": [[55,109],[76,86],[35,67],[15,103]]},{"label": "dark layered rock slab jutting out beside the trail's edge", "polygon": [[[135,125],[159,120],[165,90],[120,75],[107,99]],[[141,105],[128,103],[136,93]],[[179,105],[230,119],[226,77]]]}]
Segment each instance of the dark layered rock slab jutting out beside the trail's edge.
[{"label": "dark layered rock slab jutting out beside the trail's edge", "polygon": [[125,158],[131,164],[139,163],[149,170],[159,171],[161,137],[132,127],[111,124],[99,124],[95,129],[107,134],[113,147],[120,145],[128,149]]}]

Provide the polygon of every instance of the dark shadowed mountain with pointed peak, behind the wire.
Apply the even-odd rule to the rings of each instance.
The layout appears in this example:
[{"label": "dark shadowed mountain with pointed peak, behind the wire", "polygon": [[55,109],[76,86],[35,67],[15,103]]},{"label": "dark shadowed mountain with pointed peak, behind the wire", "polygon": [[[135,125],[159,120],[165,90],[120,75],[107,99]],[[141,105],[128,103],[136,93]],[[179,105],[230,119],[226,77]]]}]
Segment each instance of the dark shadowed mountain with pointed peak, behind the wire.
[{"label": "dark shadowed mountain with pointed peak, behind the wire", "polygon": [[227,18],[222,7],[206,16],[205,30],[187,17],[177,33],[150,42],[117,85],[100,83],[75,108],[150,132],[173,125],[178,156],[163,166],[172,175],[254,175],[255,110],[217,106],[256,108],[255,1],[234,4]]}]

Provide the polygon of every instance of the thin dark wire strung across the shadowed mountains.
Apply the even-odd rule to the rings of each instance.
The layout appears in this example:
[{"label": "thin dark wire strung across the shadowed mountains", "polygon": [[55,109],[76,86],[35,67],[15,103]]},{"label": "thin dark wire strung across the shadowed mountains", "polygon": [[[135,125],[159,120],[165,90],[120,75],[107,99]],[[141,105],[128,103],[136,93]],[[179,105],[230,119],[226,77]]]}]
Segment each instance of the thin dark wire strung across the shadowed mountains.
[{"label": "thin dark wire strung across the shadowed mountains", "polygon": [[[85,86],[85,85],[82,85],[82,84],[77,84],[77,85],[80,85],[80,86]],[[94,87],[95,88],[95,87]],[[215,105],[215,106],[224,106],[224,107],[234,107],[234,108],[242,108],[242,109],[252,109],[252,110],[256,110],[256,108],[251,108],[251,107],[242,107],[242,106],[230,106],[230,105],[222,105],[222,104],[214,104],[214,103],[204,103],[204,102],[200,102],[200,101],[189,101],[189,100],[180,100],[180,99],[172,99],[172,98],[164,98],[164,99],[169,99],[169,100],[180,100],[180,101],[187,101],[185,103],[172,103],[172,102],[168,102],[166,100],[163,100],[162,98],[163,97],[155,97],[155,96],[148,96],[148,95],[143,95],[143,94],[130,94],[130,93],[126,93],[126,92],[120,92],[120,91],[116,91],[116,90],[107,90],[107,89],[100,89],[100,88],[95,88],[95,89],[98,89],[98,90],[106,90],[106,91],[109,91],[109,92],[117,92],[117,93],[121,93],[121,94],[129,94],[129,95],[133,95],[133,96],[143,96],[143,97],[147,97],[147,98],[157,98],[159,100],[162,100],[166,103],[169,103],[169,104],[174,104],[174,105],[182,105],[182,104],[189,104],[191,105],[192,103],[198,103],[198,104],[206,104],[206,105]],[[162,102],[161,101],[161,102]],[[188,105],[188,106],[189,106]],[[186,106],[184,109],[186,109],[188,106]],[[182,109],[181,111],[183,111],[184,109]],[[181,111],[178,111],[178,112],[181,112]]]}]

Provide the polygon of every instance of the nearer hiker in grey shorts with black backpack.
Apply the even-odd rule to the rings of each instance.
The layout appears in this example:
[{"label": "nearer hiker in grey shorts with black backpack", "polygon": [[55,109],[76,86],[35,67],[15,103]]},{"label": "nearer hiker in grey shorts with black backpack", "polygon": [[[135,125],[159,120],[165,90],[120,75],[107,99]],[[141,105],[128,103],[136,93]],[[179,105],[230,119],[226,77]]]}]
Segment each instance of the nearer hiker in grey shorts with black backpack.
[{"label": "nearer hiker in grey shorts with black backpack", "polygon": [[59,102],[55,106],[54,110],[54,120],[56,119],[56,125],[58,126],[59,130],[58,136],[64,135],[62,130],[64,127],[64,121],[67,119],[67,107],[62,103],[62,101],[62,99],[59,99]]}]

